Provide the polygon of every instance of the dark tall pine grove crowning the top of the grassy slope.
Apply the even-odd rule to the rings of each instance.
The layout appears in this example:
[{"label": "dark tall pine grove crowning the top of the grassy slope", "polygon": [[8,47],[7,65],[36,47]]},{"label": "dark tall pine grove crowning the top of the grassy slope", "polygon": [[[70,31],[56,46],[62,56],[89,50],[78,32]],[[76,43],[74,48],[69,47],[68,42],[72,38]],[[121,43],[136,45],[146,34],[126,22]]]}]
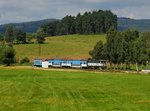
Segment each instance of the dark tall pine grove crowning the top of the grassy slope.
[{"label": "dark tall pine grove crowning the top of the grassy slope", "polygon": [[41,26],[48,36],[106,33],[110,27],[117,29],[117,16],[110,10],[78,13],[77,16],[67,15],[60,21]]}]

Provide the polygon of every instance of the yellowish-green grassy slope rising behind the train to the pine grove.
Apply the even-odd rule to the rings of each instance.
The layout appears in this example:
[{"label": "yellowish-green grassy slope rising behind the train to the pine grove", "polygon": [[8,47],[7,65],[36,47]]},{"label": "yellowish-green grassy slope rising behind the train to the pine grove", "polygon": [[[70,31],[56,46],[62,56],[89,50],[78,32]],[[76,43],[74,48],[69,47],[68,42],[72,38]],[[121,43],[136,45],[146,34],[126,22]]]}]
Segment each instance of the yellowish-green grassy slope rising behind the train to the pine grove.
[{"label": "yellowish-green grassy slope rising behind the train to the pine grove", "polygon": [[41,45],[41,56],[39,56],[38,44],[15,45],[17,58],[89,58],[89,51],[93,49],[96,42],[103,40],[105,35],[67,35],[49,37],[46,43]]}]

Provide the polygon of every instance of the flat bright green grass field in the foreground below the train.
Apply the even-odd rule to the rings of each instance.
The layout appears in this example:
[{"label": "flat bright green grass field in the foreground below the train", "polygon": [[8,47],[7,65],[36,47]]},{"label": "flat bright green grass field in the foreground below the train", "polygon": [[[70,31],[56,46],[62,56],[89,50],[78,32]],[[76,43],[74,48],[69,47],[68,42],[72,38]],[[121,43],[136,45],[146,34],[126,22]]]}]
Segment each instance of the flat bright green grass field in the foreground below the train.
[{"label": "flat bright green grass field in the foreground below the train", "polygon": [[150,111],[150,76],[0,68],[0,111]]}]

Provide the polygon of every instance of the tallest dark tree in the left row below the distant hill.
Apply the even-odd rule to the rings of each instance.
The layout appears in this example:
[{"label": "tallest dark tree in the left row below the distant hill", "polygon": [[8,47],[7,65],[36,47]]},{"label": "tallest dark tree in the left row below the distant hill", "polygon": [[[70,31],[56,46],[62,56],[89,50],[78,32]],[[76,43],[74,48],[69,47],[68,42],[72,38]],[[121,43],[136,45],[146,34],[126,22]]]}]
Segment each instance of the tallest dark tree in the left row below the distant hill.
[{"label": "tallest dark tree in the left row below the distant hill", "polygon": [[5,32],[5,41],[7,43],[13,43],[14,41],[14,27],[9,25]]}]

